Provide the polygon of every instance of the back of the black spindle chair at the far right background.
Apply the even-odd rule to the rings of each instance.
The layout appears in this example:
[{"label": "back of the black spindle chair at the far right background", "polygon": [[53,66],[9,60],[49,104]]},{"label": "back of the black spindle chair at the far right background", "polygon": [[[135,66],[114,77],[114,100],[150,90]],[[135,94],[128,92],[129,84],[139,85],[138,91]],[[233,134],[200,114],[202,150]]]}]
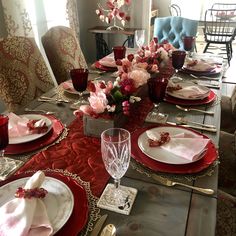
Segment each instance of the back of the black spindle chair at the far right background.
[{"label": "back of the black spindle chair at the far right background", "polygon": [[206,42],[232,42],[235,36],[236,9],[216,10],[208,9],[205,12],[204,36]]}]

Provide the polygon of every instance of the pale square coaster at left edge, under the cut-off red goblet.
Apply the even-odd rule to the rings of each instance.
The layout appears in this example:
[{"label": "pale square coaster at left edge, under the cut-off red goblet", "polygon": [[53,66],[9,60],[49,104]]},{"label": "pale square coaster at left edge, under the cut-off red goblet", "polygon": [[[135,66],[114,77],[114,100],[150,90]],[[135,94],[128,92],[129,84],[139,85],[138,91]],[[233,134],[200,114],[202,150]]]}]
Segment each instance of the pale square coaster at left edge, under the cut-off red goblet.
[{"label": "pale square coaster at left edge, under the cut-off red goblet", "polygon": [[8,157],[0,159],[0,180],[5,180],[14,174],[22,165],[23,161],[14,160]]}]

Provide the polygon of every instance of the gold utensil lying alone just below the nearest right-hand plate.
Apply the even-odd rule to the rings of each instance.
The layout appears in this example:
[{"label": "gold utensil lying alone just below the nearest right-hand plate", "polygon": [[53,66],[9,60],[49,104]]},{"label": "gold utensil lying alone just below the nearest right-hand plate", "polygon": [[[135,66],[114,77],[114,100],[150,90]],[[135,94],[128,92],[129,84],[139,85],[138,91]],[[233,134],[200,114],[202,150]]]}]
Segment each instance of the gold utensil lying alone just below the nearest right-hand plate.
[{"label": "gold utensil lying alone just below the nearest right-hand plate", "polygon": [[195,187],[195,186],[191,186],[191,185],[188,185],[188,184],[183,184],[183,183],[180,183],[180,182],[175,182],[175,181],[172,181],[172,180],[169,180],[169,179],[166,179],[164,177],[161,177],[157,174],[151,174],[151,177],[160,182],[161,184],[163,185],[166,185],[168,187],[173,187],[175,185],[180,185],[180,186],[184,186],[186,188],[191,188],[193,190],[196,190],[198,192],[201,192],[201,193],[205,193],[205,194],[208,194],[208,195],[212,195],[214,194],[214,190],[213,189],[209,189],[209,188],[199,188],[199,187]]}]

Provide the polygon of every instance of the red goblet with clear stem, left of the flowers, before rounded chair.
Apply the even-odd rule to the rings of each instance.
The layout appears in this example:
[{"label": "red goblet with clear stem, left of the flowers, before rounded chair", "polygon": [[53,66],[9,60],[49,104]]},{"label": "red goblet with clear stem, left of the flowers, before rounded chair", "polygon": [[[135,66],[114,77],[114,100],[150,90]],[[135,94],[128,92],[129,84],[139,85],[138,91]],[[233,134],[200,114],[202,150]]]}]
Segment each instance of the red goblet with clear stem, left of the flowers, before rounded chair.
[{"label": "red goblet with clear stem, left of the flowers, before rounded chair", "polygon": [[70,70],[70,77],[72,80],[73,87],[79,92],[79,99],[73,105],[86,104],[87,101],[83,99],[83,92],[86,90],[88,85],[88,70],[87,69],[72,69]]}]

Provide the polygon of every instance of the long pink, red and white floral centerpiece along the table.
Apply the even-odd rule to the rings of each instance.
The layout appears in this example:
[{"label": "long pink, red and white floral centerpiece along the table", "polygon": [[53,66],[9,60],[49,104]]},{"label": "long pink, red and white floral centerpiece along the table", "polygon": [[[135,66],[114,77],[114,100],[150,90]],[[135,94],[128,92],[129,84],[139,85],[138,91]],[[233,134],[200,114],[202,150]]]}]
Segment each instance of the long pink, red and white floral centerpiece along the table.
[{"label": "long pink, red and white floral centerpiece along the table", "polygon": [[141,100],[139,95],[145,87],[143,85],[147,84],[152,74],[158,73],[160,68],[168,64],[172,50],[174,47],[168,42],[158,44],[154,39],[136,54],[129,54],[116,61],[118,77],[114,82],[90,81],[89,105],[82,105],[79,111],[75,111],[77,115],[83,114],[85,134],[96,130],[95,136],[99,136],[100,131],[108,127],[105,121],[101,121],[102,124],[100,122],[91,128],[96,123],[95,120],[115,120],[117,117],[122,120],[124,116],[127,117],[132,104]]}]

